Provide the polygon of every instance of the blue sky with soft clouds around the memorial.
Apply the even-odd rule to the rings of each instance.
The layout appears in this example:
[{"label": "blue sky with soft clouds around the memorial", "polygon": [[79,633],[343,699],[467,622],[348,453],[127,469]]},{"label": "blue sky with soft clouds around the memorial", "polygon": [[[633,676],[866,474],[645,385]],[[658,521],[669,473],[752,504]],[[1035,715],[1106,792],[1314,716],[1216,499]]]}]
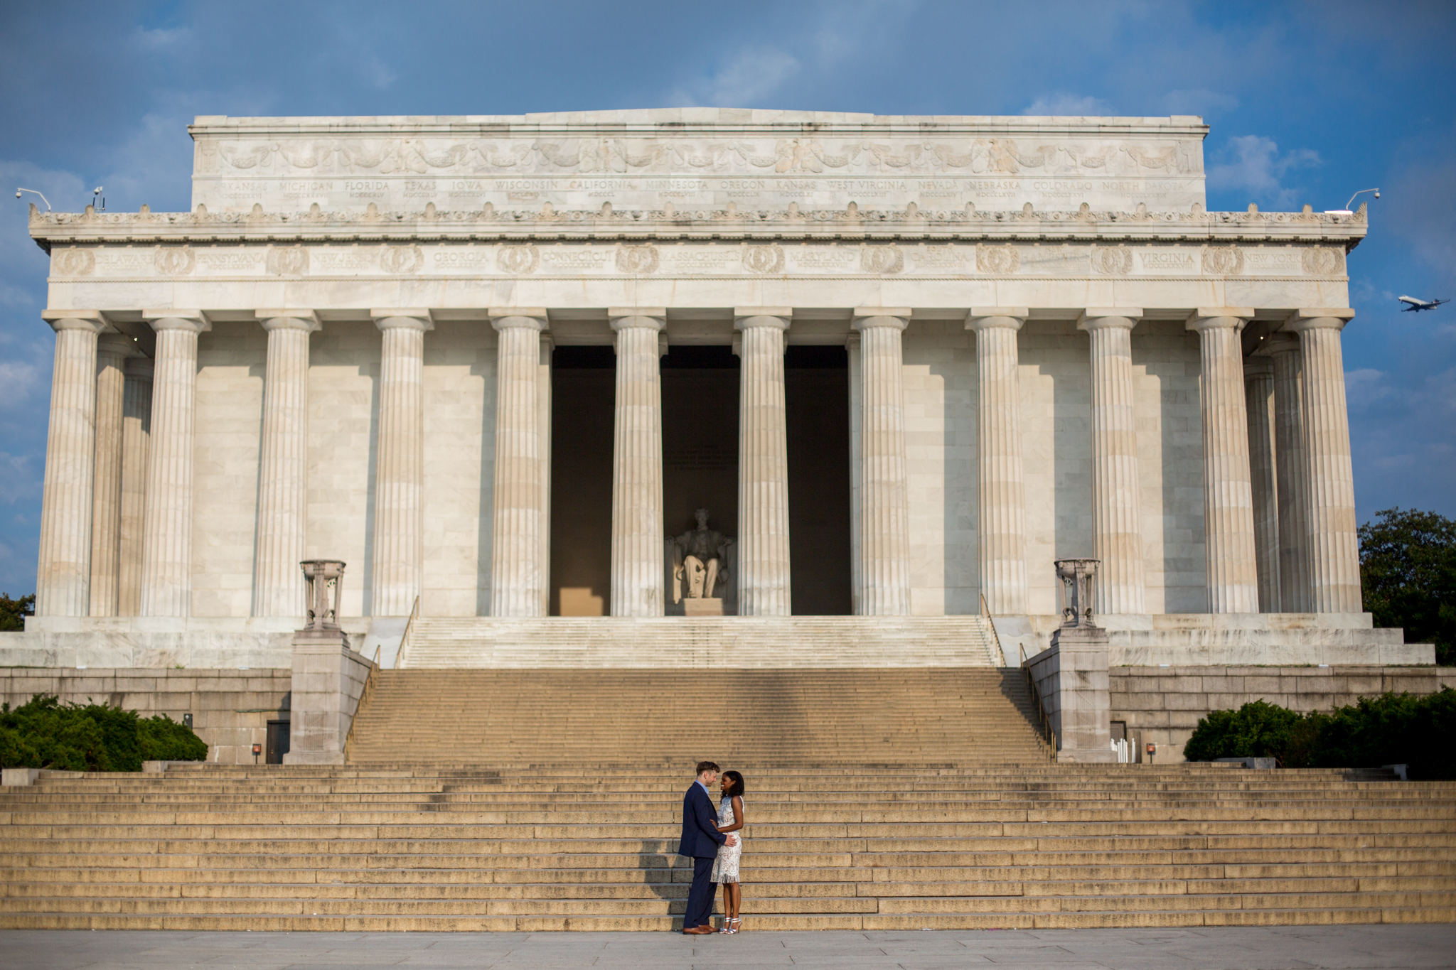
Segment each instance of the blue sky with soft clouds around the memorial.
[{"label": "blue sky with soft clouds around the memorial", "polygon": [[[7,4],[0,186],[186,209],[194,115],[1203,115],[1210,208],[1332,209],[1380,186],[1344,339],[1360,519],[1456,516],[1456,304],[1395,302],[1456,297],[1453,54],[1450,1]],[[54,345],[25,214],[0,207],[12,595],[35,588]]]}]

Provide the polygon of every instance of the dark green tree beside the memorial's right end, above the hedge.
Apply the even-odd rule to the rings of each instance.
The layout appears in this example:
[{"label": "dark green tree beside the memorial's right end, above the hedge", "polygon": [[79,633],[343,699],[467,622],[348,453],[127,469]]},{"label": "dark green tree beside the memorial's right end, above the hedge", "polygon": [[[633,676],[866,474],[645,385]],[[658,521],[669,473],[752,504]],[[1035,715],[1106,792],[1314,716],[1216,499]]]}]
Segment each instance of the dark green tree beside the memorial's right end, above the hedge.
[{"label": "dark green tree beside the memorial's right end, above the hedge", "polygon": [[1434,512],[1385,509],[1360,526],[1360,586],[1377,627],[1406,643],[1434,643],[1456,663],[1456,522]]}]

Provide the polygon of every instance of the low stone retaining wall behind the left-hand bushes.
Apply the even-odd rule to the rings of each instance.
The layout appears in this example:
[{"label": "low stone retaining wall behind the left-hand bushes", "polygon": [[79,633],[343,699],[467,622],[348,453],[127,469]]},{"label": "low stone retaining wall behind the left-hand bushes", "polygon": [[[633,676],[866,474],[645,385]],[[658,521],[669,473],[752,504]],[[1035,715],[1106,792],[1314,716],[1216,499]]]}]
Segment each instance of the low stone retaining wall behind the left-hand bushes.
[{"label": "low stone retaining wall behind the left-hand bushes", "polygon": [[293,670],[188,670],[154,668],[0,668],[0,701],[12,708],[36,694],[63,702],[109,704],[143,717],[192,716],[208,761],[253,763],[252,746],[268,743],[268,721],[288,720]]}]

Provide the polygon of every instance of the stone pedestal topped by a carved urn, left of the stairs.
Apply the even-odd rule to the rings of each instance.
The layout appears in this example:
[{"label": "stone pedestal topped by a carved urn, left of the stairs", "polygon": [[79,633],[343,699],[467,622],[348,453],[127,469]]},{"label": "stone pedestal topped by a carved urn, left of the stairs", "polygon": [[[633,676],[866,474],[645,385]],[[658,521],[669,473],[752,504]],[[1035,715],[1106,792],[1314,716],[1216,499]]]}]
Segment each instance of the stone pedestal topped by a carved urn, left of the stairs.
[{"label": "stone pedestal topped by a carved urn, left of the stairs", "polygon": [[307,560],[309,625],[293,637],[285,765],[342,765],[344,742],[373,663],[349,650],[338,624],[344,563]]}]

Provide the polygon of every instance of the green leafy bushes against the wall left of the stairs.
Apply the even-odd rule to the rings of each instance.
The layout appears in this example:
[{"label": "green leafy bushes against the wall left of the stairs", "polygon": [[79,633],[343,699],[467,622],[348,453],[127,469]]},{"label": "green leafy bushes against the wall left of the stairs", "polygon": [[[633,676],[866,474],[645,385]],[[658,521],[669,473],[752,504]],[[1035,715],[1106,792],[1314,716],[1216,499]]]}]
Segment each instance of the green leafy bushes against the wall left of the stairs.
[{"label": "green leafy bushes against the wall left of the stairs", "polygon": [[207,761],[207,745],[166,714],[140,717],[105,704],[61,704],[36,694],[0,705],[0,765],[60,771],[141,771],[144,761]]}]

